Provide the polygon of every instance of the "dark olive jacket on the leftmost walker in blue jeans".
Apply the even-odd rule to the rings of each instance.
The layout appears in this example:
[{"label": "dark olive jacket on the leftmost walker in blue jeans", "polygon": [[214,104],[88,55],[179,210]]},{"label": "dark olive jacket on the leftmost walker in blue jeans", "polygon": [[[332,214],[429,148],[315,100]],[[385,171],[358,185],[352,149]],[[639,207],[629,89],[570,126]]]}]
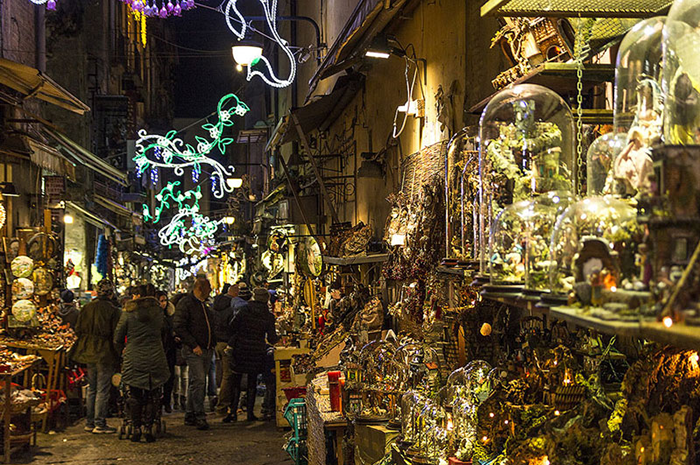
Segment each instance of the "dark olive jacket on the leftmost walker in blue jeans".
[{"label": "dark olive jacket on the leftmost walker in blue jeans", "polygon": [[118,366],[119,352],[113,339],[121,313],[110,300],[102,297],[85,305],[75,323],[78,340],[71,349],[70,358],[77,363]]}]

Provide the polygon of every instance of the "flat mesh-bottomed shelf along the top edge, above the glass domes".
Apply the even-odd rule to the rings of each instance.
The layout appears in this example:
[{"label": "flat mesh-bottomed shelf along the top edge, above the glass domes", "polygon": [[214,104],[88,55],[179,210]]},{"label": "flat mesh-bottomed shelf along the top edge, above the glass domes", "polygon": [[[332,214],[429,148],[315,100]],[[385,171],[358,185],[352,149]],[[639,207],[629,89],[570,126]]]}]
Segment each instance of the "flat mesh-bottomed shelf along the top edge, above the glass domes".
[{"label": "flat mesh-bottomed shelf along the top edge, above the glass domes", "polygon": [[489,0],[481,16],[648,18],[665,14],[672,0]]}]

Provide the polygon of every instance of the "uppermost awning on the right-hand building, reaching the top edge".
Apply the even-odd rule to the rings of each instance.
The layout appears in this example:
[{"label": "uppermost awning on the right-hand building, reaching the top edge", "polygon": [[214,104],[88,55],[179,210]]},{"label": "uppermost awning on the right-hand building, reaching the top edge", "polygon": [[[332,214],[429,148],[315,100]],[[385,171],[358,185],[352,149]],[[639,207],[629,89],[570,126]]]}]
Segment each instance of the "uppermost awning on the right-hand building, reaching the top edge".
[{"label": "uppermost awning on the right-hand building, reaching the top edge", "polygon": [[309,95],[322,79],[351,67],[363,58],[372,40],[398,14],[408,0],[361,0],[338,34],[323,63],[309,81]]}]

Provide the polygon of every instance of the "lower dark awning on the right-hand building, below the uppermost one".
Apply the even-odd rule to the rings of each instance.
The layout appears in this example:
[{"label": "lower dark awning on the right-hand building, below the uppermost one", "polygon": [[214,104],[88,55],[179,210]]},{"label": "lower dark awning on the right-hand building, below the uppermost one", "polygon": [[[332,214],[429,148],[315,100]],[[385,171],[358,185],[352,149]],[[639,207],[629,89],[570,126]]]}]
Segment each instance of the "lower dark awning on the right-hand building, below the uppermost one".
[{"label": "lower dark awning on the right-hand building, below the uppermost one", "polygon": [[342,76],[336,82],[335,88],[328,95],[323,95],[299,108],[292,108],[280,118],[272,132],[265,150],[293,142],[299,138],[296,129],[291,124],[291,115],[295,114],[303,131],[308,134],[314,129],[327,130],[338,119],[346,106],[355,98],[362,88],[364,76],[361,74]]}]

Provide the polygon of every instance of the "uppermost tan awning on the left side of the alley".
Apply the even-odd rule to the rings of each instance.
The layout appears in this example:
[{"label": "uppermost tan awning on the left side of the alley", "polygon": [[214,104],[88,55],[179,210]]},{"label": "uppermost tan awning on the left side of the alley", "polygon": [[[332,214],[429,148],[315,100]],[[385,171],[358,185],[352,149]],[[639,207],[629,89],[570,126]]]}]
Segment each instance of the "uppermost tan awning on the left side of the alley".
[{"label": "uppermost tan awning on the left side of the alley", "polygon": [[90,107],[38,69],[0,58],[0,84],[24,95],[24,100],[38,98],[80,115]]}]

